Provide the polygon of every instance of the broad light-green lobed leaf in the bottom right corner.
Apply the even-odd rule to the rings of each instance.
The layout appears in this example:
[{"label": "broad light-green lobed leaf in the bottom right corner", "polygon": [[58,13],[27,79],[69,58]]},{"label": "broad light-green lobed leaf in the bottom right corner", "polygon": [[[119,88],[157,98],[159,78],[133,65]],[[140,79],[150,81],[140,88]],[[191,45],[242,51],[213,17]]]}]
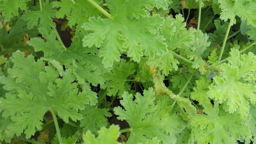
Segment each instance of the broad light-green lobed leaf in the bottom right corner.
[{"label": "broad light-green lobed leaf in the bottom right corner", "polygon": [[204,112],[192,119],[192,136],[198,144],[234,144],[237,140],[250,141],[251,132],[239,114],[219,112],[219,105],[204,105]]}]

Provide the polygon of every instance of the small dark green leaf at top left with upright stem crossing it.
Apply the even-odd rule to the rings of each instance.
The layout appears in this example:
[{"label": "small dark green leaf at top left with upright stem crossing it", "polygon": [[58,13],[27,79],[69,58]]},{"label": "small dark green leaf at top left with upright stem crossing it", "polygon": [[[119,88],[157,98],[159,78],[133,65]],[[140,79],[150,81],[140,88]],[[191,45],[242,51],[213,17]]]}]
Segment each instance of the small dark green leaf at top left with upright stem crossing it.
[{"label": "small dark green leaf at top left with upright stem crossing it", "polygon": [[[46,28],[50,30],[50,27],[55,27],[55,23],[52,21],[52,18],[55,16],[56,11],[52,9],[52,4],[49,4],[49,0],[46,0],[43,3],[42,11],[26,11],[22,19],[28,21],[28,29],[32,29],[38,25],[40,28]],[[39,20],[40,19],[40,20]]]}]

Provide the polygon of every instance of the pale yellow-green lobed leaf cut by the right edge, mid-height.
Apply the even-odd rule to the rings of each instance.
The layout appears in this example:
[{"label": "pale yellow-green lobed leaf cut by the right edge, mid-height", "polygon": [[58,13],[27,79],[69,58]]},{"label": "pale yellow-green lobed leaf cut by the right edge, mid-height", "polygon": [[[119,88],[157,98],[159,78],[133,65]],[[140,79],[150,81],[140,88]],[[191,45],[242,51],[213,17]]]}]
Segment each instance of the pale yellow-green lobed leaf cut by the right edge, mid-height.
[{"label": "pale yellow-green lobed leaf cut by the right edge, mid-height", "polygon": [[256,69],[255,55],[249,52],[240,55],[235,49],[231,49],[228,63],[220,66],[219,77],[214,77],[215,85],[209,87],[208,96],[218,103],[228,106],[227,111],[237,111],[243,118],[249,114],[249,102],[256,102],[256,87],[241,82],[243,76]]}]

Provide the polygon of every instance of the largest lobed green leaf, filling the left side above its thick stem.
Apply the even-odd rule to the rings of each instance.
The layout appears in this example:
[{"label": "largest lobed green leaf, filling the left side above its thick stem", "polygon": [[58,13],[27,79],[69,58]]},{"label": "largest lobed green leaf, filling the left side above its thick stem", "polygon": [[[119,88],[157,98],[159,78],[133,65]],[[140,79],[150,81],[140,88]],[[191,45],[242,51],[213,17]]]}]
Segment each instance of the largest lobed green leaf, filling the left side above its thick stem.
[{"label": "largest lobed green leaf, filling the left side above its thick stem", "polygon": [[7,126],[9,136],[20,136],[24,131],[26,138],[30,138],[36,130],[42,129],[47,111],[56,112],[66,123],[69,118],[73,121],[83,118],[78,110],[84,109],[91,98],[85,92],[78,92],[69,69],[58,78],[59,73],[51,64],[45,66],[43,60],[35,62],[32,55],[24,58],[24,53],[19,51],[13,53],[12,62],[9,76],[0,77],[4,89],[9,91],[0,99],[3,116],[12,118]]}]

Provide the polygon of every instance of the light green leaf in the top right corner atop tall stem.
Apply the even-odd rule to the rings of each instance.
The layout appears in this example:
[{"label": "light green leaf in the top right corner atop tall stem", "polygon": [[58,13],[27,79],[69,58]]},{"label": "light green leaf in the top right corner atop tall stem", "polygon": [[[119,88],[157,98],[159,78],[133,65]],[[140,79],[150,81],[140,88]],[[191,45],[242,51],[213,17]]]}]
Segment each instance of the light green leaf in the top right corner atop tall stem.
[{"label": "light green leaf in the top right corner atop tall stem", "polygon": [[248,24],[256,27],[256,2],[247,0],[219,0],[221,13],[220,19],[236,24],[235,16],[247,21]]}]

